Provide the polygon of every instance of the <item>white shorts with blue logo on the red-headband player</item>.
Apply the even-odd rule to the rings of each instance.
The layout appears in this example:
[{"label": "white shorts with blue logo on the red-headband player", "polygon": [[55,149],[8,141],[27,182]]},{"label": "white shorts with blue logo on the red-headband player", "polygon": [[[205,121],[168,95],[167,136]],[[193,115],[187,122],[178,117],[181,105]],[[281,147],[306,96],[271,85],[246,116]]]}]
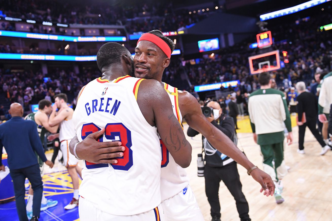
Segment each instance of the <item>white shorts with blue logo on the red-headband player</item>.
[{"label": "white shorts with blue logo on the red-headband player", "polygon": [[190,185],[175,196],[161,202],[167,221],[204,221]]}]

